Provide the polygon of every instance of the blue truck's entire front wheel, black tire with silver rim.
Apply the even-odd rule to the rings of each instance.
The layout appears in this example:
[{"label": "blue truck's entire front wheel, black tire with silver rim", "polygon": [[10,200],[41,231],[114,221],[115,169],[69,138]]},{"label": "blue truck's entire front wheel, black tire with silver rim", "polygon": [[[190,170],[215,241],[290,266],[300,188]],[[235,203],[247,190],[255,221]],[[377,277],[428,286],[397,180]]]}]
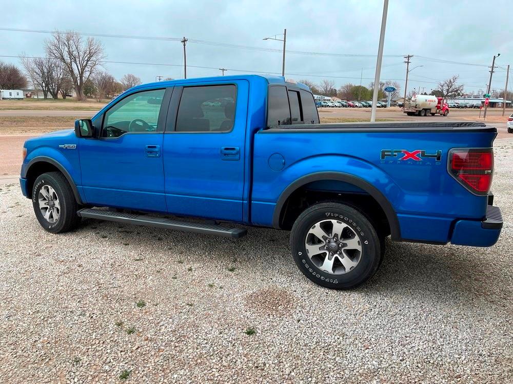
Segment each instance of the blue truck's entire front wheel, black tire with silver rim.
[{"label": "blue truck's entire front wheel, black tire with silver rim", "polygon": [[43,174],[34,181],[32,206],[37,221],[49,232],[66,232],[80,222],[73,190],[60,172]]}]

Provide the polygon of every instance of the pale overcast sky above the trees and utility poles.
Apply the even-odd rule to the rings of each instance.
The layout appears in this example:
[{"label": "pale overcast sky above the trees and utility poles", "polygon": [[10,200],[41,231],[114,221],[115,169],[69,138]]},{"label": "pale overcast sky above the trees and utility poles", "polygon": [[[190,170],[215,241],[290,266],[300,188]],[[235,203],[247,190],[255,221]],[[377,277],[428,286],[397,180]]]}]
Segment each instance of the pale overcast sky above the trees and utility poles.
[{"label": "pale overcast sky above the trees and utility poles", "polygon": [[[410,4],[406,6],[406,4]],[[437,2],[435,2],[437,3]],[[467,92],[484,90],[494,54],[501,53],[492,88],[504,88],[505,68],[513,64],[513,1],[482,0],[440,2],[391,0],[381,79],[396,79],[404,87],[403,55],[411,58],[408,90],[429,92],[437,81],[459,74]],[[32,30],[73,29],[83,33],[157,36],[281,50],[282,42],[262,40],[287,28],[287,50],[347,57],[287,53],[286,77],[320,82],[333,80],[336,87],[374,78],[378,51],[382,1],[5,1],[2,28]],[[44,33],[2,31],[0,55],[44,54]],[[281,38],[281,36],[278,36]],[[100,39],[110,61],[161,63],[175,66],[106,63],[116,78],[133,73],[143,82],[156,75],[183,77],[183,47],[180,41],[114,37]],[[422,56],[422,57],[420,57]],[[447,60],[459,63],[443,63]],[[0,60],[19,64],[17,58]],[[281,52],[229,48],[187,43],[188,77],[265,72],[281,74]],[[467,63],[467,65],[461,64]],[[471,64],[471,65],[468,65]],[[237,71],[235,71],[237,70]],[[513,69],[512,69],[513,70]],[[513,81],[511,81],[513,83]],[[513,87],[508,87],[513,88]],[[403,88],[404,89],[404,88]]]}]

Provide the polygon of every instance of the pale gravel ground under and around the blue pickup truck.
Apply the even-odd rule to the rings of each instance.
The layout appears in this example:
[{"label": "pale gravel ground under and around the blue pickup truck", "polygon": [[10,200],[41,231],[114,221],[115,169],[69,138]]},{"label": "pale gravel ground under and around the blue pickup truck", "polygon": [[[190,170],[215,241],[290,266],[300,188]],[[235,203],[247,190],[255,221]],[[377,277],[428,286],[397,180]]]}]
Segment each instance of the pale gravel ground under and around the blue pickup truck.
[{"label": "pale gravel ground under and around the blue pickup truck", "polygon": [[0,382],[513,382],[512,158],[496,142],[494,247],[388,242],[347,292],[304,278],[287,232],[53,235],[1,186]]}]

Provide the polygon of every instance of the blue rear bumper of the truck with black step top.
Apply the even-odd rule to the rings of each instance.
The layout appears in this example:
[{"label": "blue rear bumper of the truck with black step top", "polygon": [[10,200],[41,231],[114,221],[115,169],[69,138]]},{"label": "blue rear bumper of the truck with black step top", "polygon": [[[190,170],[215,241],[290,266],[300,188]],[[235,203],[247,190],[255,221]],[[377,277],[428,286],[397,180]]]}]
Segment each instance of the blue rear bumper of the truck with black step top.
[{"label": "blue rear bumper of the truck with black step top", "polygon": [[491,247],[499,239],[502,224],[501,208],[488,205],[485,220],[458,220],[450,242],[472,247]]}]

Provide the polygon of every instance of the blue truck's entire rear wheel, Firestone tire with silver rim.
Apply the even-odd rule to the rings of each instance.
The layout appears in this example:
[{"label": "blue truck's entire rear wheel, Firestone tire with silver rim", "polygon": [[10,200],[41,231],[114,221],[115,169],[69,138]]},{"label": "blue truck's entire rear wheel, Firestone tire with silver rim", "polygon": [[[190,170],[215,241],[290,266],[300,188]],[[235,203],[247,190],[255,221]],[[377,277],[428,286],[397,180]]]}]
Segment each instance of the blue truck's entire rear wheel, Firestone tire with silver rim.
[{"label": "blue truck's entire rear wheel, Firestone tire with silver rim", "polygon": [[290,236],[292,257],[315,284],[349,289],[378,270],[381,245],[376,230],[358,210],[335,202],[306,209]]}]

